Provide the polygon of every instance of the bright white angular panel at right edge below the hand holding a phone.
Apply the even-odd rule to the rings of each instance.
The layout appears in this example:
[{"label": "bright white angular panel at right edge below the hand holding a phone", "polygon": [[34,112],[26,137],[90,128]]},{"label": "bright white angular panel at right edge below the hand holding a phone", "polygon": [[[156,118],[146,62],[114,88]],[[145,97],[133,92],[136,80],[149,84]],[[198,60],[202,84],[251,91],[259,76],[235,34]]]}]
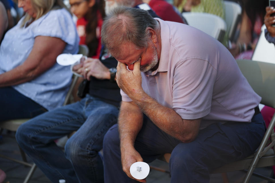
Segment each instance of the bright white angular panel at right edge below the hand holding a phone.
[{"label": "bright white angular panel at right edge below the hand holding a phone", "polygon": [[252,60],[275,63],[275,46],[266,40],[264,29],[266,29],[265,25],[261,28],[262,32],[253,52]]}]

